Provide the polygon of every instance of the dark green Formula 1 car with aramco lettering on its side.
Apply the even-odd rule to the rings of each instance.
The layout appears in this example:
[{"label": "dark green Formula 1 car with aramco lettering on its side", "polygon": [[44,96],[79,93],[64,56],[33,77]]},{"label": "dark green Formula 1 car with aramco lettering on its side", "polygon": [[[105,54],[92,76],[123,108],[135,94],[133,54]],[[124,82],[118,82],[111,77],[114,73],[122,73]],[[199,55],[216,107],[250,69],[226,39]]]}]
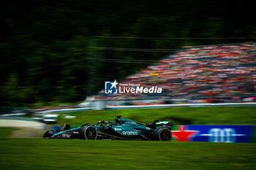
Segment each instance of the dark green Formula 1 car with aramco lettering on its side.
[{"label": "dark green Formula 1 car with aramco lettering on its side", "polygon": [[115,122],[100,120],[96,125],[84,124],[77,128],[71,128],[65,124],[55,131],[50,130],[43,138],[49,139],[137,139],[170,141],[173,125],[169,121],[154,123],[138,123],[135,120],[123,119],[116,116]]}]

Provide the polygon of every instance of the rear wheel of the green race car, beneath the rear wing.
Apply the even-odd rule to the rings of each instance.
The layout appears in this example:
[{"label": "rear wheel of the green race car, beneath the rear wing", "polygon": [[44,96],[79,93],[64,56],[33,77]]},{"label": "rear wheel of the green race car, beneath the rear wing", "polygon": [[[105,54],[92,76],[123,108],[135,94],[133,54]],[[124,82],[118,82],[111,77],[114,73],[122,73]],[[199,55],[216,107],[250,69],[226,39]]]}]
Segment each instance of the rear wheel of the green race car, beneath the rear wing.
[{"label": "rear wheel of the green race car, beneath the rear wing", "polygon": [[172,133],[169,128],[156,128],[153,131],[152,138],[158,141],[170,141],[172,139]]}]

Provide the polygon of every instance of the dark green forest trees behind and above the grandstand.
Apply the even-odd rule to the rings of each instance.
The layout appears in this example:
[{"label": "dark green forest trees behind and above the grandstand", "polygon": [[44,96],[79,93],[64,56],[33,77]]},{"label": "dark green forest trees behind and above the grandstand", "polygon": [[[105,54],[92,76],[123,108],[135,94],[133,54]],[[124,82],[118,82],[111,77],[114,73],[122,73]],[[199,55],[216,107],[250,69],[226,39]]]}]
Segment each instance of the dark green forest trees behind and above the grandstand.
[{"label": "dark green forest trees behind and above the grandstand", "polygon": [[253,42],[253,7],[245,1],[4,0],[0,7],[0,106],[81,101],[102,90],[103,81],[123,80],[154,63],[149,60],[170,54],[91,47],[179,49]]}]

